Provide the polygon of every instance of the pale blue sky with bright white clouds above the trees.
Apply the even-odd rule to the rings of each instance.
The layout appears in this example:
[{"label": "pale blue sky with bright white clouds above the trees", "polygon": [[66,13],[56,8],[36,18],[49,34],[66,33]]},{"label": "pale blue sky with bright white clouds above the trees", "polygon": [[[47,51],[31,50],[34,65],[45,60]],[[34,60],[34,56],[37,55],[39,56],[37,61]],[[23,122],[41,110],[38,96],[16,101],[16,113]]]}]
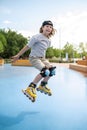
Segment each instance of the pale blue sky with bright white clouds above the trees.
[{"label": "pale blue sky with bright white clouds above the trees", "polygon": [[45,20],[57,30],[51,38],[54,48],[87,43],[87,0],[0,0],[0,29],[32,37]]}]

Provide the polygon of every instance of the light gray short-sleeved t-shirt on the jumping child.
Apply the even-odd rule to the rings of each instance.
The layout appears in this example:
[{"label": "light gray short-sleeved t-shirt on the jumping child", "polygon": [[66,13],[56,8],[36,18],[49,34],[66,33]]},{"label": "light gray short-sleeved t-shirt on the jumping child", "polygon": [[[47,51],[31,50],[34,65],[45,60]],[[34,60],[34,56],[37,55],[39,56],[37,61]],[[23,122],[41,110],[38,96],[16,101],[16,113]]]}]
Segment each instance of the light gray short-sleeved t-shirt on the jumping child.
[{"label": "light gray short-sleeved t-shirt on the jumping child", "polygon": [[34,35],[27,45],[31,48],[30,57],[45,57],[46,50],[50,47],[51,41],[40,33]]}]

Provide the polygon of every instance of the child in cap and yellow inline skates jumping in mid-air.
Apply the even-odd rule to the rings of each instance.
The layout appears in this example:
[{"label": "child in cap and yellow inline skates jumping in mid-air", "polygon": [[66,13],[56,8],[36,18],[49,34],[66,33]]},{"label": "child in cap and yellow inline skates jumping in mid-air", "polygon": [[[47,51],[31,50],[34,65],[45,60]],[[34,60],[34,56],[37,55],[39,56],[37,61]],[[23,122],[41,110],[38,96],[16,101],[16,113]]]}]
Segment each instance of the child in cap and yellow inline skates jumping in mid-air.
[{"label": "child in cap and yellow inline skates jumping in mid-air", "polygon": [[[31,52],[29,55],[29,60],[35,68],[37,68],[40,73],[34,78],[34,80],[29,84],[29,86],[23,90],[23,93],[31,99],[32,102],[36,99],[36,89],[48,95],[52,95],[51,90],[47,87],[48,80],[51,76],[55,75],[55,68],[46,59],[45,54],[47,48],[50,47],[51,41],[50,37],[55,34],[55,29],[53,23],[48,20],[42,23],[39,30],[39,34],[34,35],[29,43],[20,52],[13,56],[13,62],[19,59],[19,57],[25,53],[29,48]],[[37,87],[38,82],[41,81],[39,87]],[[37,87],[37,88],[36,88]]]}]

